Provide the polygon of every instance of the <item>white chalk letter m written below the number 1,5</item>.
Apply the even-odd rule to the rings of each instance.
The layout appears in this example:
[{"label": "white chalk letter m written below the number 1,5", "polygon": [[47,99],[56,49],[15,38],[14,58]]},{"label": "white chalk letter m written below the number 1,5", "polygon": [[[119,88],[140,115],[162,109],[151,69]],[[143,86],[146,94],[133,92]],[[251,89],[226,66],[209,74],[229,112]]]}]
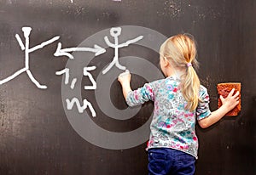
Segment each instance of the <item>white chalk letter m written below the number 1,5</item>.
[{"label": "white chalk letter m written below the number 1,5", "polygon": [[91,112],[91,116],[96,117],[96,112],[95,112],[95,110],[93,109],[93,107],[92,107],[92,105],[90,104],[90,102],[87,101],[87,99],[84,99],[84,100],[83,100],[83,105],[81,105],[81,104],[79,103],[79,99],[77,99],[77,98],[73,98],[71,101],[70,101],[70,99],[66,99],[66,103],[67,103],[67,110],[72,110],[74,104],[76,104],[76,105],[77,105],[77,108],[78,108],[78,110],[79,110],[79,113],[83,113],[84,110],[85,110],[87,107],[89,107],[89,110],[90,110],[90,112]]}]

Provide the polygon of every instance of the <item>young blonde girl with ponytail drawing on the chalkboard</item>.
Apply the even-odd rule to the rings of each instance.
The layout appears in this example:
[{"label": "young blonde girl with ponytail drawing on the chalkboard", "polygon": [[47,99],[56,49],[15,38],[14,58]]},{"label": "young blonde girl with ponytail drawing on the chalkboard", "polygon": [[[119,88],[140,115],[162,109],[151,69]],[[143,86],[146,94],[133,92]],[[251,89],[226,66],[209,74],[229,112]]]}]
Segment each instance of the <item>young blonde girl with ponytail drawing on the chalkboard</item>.
[{"label": "young blonde girl with ponytail drawing on the chalkboard", "polygon": [[129,106],[154,101],[147,148],[149,174],[194,174],[196,119],[202,128],[209,127],[239,103],[239,92],[234,94],[233,89],[226,99],[220,96],[223,105],[218,110],[209,110],[207,88],[201,86],[194,69],[195,56],[195,41],[188,35],[177,35],[160,47],[160,69],[166,79],[132,91],[131,74],[119,76]]}]

